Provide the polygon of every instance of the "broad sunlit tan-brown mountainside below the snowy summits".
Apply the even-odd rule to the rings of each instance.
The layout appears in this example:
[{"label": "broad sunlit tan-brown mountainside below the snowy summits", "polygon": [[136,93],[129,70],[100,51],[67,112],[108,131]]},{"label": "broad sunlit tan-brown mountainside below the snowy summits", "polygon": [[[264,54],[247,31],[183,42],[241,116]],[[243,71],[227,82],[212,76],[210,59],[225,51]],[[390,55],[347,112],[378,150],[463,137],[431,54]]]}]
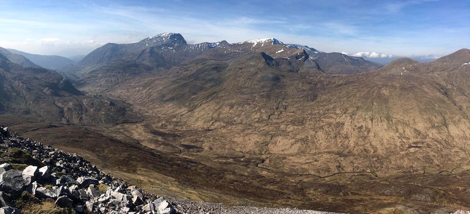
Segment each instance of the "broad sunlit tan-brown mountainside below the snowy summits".
[{"label": "broad sunlit tan-brown mountainside below the snowy summits", "polygon": [[[432,65],[400,59],[374,72],[330,76],[297,56],[189,61],[101,92],[131,102],[150,121],[210,131],[194,146],[225,147],[211,155],[262,154],[268,169],[321,176],[419,172],[468,159],[468,112],[449,95],[458,88],[425,75]],[[467,99],[459,93],[462,105]]]}]

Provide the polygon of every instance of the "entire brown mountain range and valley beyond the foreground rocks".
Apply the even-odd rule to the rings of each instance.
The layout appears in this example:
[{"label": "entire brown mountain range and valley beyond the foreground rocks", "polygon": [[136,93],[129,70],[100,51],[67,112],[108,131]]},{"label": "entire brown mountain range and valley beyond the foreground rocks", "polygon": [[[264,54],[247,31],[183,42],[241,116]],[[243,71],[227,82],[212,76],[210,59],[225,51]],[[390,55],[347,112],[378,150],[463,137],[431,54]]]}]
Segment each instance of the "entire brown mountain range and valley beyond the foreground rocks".
[{"label": "entire brown mountain range and valley beyond the foreground rocks", "polygon": [[447,182],[470,169],[469,49],[382,66],[274,38],[163,33],[60,73],[0,53],[1,123],[153,193],[346,213],[470,207],[468,188]]}]

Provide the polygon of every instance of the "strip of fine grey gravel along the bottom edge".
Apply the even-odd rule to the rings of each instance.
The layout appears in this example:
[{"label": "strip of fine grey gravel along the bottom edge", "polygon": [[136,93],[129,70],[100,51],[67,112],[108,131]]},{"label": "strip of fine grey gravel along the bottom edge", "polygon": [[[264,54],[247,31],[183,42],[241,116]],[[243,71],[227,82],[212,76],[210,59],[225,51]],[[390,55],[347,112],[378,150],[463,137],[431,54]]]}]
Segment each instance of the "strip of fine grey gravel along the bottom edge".
[{"label": "strip of fine grey gravel along the bottom edge", "polygon": [[295,208],[267,208],[249,206],[227,206],[223,204],[195,202],[181,198],[167,198],[182,214],[339,214]]}]

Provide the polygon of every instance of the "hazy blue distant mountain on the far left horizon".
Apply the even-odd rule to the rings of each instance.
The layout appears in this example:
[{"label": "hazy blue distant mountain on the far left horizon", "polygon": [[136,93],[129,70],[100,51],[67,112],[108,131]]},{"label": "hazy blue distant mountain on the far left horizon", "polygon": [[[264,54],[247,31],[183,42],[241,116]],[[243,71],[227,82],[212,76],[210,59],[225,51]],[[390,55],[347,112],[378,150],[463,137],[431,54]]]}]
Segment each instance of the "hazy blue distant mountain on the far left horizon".
[{"label": "hazy blue distant mountain on the far left horizon", "polygon": [[30,54],[23,51],[8,49],[10,52],[15,54],[20,54],[26,57],[28,60],[37,64],[41,67],[57,70],[61,67],[68,66],[74,62],[66,57],[55,56],[55,55],[39,55],[39,54]]}]

